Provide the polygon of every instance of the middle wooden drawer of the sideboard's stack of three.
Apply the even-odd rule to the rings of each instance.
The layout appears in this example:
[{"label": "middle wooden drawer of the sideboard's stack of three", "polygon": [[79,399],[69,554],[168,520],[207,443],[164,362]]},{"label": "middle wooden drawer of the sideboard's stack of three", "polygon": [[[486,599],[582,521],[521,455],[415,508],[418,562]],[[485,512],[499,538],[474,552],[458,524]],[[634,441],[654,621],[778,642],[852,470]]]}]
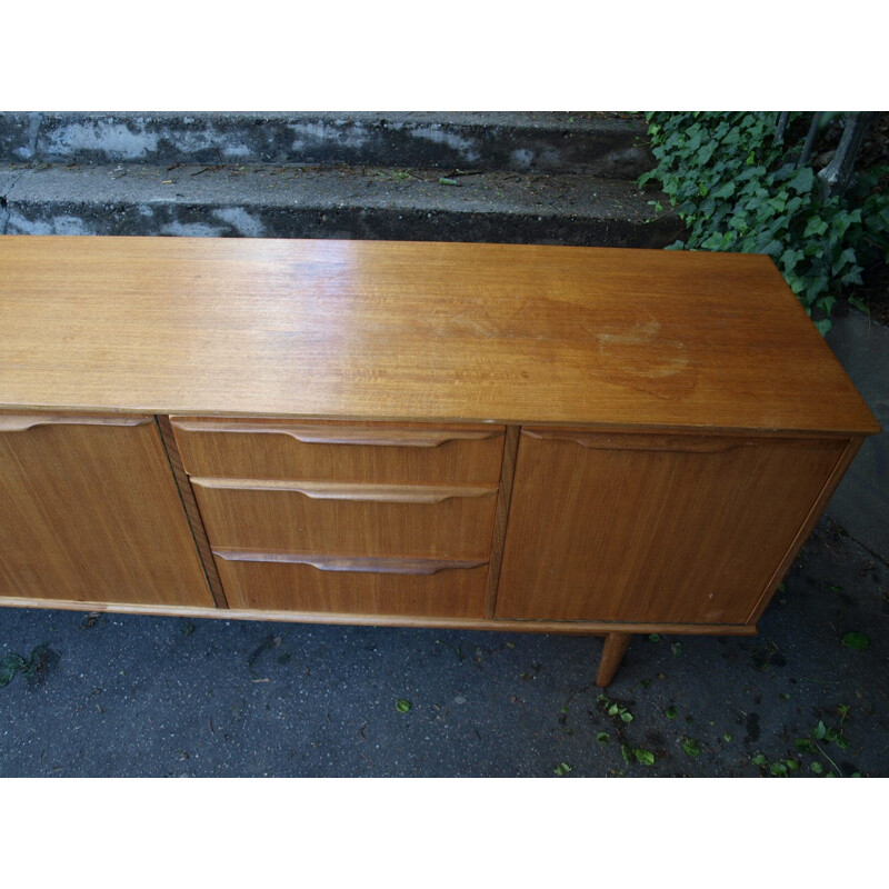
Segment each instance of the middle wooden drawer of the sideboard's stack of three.
[{"label": "middle wooden drawer of the sideboard's stack of three", "polygon": [[495,486],[193,478],[214,548],[488,559]]}]

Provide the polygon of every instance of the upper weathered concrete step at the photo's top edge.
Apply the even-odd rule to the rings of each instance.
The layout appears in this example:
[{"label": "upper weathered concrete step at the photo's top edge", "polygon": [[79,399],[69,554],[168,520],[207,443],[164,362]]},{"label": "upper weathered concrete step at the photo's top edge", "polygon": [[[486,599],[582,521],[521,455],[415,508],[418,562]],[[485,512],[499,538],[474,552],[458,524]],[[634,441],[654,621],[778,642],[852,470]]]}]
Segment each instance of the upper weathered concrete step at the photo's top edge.
[{"label": "upper weathered concrete step at the photo's top edge", "polygon": [[637,179],[652,166],[641,117],[603,112],[8,112],[0,160],[351,163],[603,179]]}]

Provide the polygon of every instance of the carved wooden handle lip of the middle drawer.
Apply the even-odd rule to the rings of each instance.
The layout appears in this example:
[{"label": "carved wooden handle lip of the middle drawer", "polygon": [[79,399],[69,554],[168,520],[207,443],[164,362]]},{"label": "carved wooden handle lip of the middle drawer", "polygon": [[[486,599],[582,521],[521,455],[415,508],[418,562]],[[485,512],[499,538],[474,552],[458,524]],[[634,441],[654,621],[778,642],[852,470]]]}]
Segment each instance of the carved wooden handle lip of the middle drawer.
[{"label": "carved wooden handle lip of the middle drawer", "polygon": [[497,488],[422,485],[357,485],[339,481],[191,478],[199,488],[236,491],[292,491],[312,500],[371,500],[381,503],[442,503],[455,497],[490,497]]}]

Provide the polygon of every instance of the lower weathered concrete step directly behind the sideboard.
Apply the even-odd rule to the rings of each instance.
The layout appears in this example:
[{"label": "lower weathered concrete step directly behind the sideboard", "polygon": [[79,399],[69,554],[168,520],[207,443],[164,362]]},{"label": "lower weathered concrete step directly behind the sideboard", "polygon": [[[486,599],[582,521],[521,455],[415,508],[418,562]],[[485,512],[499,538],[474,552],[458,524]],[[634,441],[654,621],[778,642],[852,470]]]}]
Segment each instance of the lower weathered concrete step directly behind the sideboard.
[{"label": "lower weathered concrete step directly behind the sideboard", "polygon": [[[349,238],[663,247],[623,180],[289,166],[48,166],[0,173],[0,232]],[[455,182],[457,184],[449,184]]]}]

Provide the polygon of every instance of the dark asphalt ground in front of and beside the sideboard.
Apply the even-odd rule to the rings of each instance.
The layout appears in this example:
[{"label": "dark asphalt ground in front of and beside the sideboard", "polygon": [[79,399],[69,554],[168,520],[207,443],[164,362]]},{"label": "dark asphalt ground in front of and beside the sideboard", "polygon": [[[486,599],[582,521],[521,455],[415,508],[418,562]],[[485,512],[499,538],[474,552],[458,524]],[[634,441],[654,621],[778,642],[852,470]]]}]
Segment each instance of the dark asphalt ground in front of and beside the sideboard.
[{"label": "dark asphalt ground in front of and beside the sideboard", "polygon": [[888,618],[826,519],[758,637],[636,637],[607,697],[596,638],[0,609],[0,775],[886,776]]}]

